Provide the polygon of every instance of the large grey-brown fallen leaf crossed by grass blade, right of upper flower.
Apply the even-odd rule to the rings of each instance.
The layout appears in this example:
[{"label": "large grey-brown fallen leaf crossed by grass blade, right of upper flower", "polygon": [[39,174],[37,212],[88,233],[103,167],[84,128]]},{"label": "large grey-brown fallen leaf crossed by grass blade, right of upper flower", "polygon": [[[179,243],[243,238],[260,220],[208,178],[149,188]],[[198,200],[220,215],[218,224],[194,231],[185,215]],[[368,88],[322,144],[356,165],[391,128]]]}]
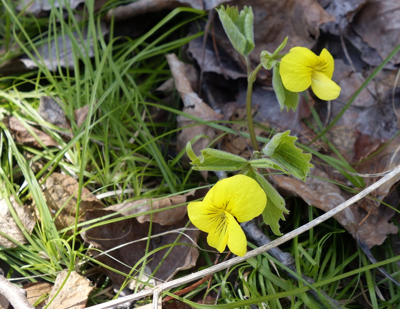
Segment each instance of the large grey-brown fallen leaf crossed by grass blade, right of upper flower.
[{"label": "large grey-brown fallen leaf crossed by grass blade, right of upper flower", "polygon": [[[330,120],[334,119],[362,84],[361,76],[354,74],[350,66],[341,60],[336,61],[336,65],[339,70],[335,70],[334,80],[339,81],[342,91],[331,103]],[[393,85],[393,82],[385,83]],[[395,109],[400,108],[398,98],[395,98],[394,106]],[[324,109],[326,105],[321,110]],[[326,118],[326,116],[320,117]],[[370,82],[368,89],[364,88],[360,92],[352,105],[328,131],[327,136],[340,154],[348,162],[353,163],[367,157],[381,143],[393,138],[398,132],[396,120],[392,88],[376,80]]]}]

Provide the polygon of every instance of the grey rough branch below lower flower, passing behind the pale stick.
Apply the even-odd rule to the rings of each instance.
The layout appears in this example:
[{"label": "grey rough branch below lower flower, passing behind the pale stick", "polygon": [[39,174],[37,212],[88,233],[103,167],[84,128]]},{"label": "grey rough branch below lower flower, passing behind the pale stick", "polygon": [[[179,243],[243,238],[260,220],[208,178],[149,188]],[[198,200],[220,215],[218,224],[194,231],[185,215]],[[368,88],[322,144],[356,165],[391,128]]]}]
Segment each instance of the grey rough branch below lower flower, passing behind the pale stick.
[{"label": "grey rough branch below lower flower, passing behind the pale stick", "polygon": [[[261,247],[261,246],[266,245],[267,243],[271,242],[271,239],[267,235],[262,233],[262,231],[260,231],[260,229],[258,229],[258,227],[252,221],[240,223],[240,226],[242,227],[244,233],[246,233],[246,235],[249,238],[253,239],[257,243],[258,246]],[[284,252],[281,249],[279,249],[278,247],[268,250],[268,253],[270,255],[272,255],[274,258],[276,258],[278,261],[280,261],[283,265],[288,267],[294,273],[297,272],[296,264],[295,264],[296,262],[294,261],[294,257],[290,253]],[[288,271],[286,271],[286,273],[288,274],[289,277],[291,277],[295,280],[298,280],[298,278],[296,276],[294,276],[292,273],[290,273]],[[306,275],[303,275],[303,274],[301,276],[308,283],[310,283],[310,284],[315,283],[314,279],[312,279]],[[312,296],[314,296],[316,299],[320,300],[318,293],[316,293],[316,291],[308,290],[307,292],[310,293]],[[330,298],[329,295],[326,294],[324,291],[321,291],[321,293],[335,306],[335,307],[331,306],[331,308],[341,308],[336,299]],[[321,301],[321,303],[322,303],[322,301]]]}]

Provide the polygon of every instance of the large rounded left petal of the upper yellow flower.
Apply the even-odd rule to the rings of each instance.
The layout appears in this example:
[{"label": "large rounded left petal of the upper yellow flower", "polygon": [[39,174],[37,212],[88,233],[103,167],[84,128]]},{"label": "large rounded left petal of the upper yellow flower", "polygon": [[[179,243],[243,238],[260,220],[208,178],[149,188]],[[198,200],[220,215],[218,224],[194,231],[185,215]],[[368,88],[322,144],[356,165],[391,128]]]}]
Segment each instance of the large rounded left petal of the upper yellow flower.
[{"label": "large rounded left petal of the upper yellow flower", "polygon": [[300,92],[311,85],[311,75],[318,56],[305,47],[294,47],[280,61],[279,73],[287,90]]}]

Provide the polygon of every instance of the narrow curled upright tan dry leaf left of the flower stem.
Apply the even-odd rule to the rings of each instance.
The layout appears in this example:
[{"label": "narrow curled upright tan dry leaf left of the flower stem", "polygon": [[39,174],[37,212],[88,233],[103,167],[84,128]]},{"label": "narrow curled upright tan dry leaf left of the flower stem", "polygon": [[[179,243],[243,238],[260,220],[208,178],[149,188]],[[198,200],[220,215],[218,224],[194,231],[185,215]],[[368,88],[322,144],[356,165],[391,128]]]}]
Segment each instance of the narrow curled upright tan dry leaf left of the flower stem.
[{"label": "narrow curled upright tan dry leaf left of the flower stem", "polygon": [[[192,90],[190,82],[186,77],[184,64],[178,60],[175,54],[166,55],[166,58],[172,71],[172,76],[174,77],[176,90],[178,90],[184,104],[183,112],[202,118],[203,120],[221,120],[223,116],[216,113],[210,106],[205,104]],[[176,120],[178,122],[178,127],[196,123],[184,116],[178,116]],[[209,139],[200,138],[192,144],[195,154],[199,154],[200,150],[206,148],[210,141],[218,136],[219,132],[207,125],[183,129],[178,134],[178,151],[184,149],[188,141],[200,134],[208,136]]]}]

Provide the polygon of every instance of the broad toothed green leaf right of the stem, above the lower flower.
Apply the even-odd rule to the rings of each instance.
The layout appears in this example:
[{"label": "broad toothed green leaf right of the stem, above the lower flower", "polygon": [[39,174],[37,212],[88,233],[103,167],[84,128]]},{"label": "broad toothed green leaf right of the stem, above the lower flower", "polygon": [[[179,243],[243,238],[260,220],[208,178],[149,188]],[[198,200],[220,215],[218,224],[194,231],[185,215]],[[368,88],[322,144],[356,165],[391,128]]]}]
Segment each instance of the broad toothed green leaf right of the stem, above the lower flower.
[{"label": "broad toothed green leaf right of the stem, above the lower flower", "polygon": [[311,154],[304,154],[303,150],[296,147],[295,136],[289,135],[290,131],[275,134],[274,137],[262,149],[262,152],[273,161],[287,169],[294,177],[306,181],[310,173]]}]

